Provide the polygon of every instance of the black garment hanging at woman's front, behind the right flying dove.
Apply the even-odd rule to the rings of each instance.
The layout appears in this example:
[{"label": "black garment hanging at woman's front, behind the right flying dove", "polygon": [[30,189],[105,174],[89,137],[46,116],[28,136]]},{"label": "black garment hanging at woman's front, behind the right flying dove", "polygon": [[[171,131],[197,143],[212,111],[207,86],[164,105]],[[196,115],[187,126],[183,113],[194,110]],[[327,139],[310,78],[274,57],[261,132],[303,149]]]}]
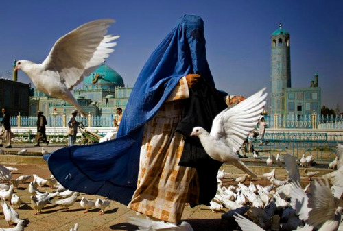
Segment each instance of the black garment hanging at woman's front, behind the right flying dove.
[{"label": "black garment hanging at woman's front, behind the right flying dove", "polygon": [[189,99],[185,108],[185,117],[176,129],[185,136],[179,165],[197,169],[200,184],[199,204],[209,205],[217,192],[217,173],[222,162],[213,160],[206,154],[198,136],[190,136],[190,134],[193,127],[198,126],[210,132],[213,119],[227,108],[227,105],[224,96],[205,82],[204,78],[200,78],[196,88],[189,90]]}]

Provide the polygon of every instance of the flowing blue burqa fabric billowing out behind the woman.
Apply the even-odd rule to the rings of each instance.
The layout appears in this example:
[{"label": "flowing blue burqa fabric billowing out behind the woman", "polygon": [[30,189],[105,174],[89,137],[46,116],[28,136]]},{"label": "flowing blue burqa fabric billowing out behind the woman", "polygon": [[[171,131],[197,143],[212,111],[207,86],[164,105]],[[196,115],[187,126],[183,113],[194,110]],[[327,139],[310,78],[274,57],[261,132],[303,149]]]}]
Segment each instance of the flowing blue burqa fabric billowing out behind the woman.
[{"label": "flowing blue burqa fabric billowing out behind the woman", "polygon": [[206,60],[200,16],[185,15],[143,67],[123,113],[117,138],[65,147],[44,156],[54,177],[72,191],[128,204],[137,187],[143,127],[158,112],[181,77],[200,73],[215,87]]}]

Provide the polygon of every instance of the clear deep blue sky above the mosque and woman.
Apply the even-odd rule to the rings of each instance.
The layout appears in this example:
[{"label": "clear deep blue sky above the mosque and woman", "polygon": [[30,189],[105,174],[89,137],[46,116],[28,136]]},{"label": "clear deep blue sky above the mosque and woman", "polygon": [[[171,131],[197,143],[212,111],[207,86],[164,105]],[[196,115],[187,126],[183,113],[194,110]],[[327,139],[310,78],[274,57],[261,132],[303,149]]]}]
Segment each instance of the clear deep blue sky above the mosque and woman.
[{"label": "clear deep blue sky above the mosque and woman", "polygon": [[[109,33],[121,38],[106,63],[133,86],[183,14],[204,19],[207,60],[218,89],[246,97],[264,86],[269,92],[270,36],[282,21],[291,36],[292,87],[309,86],[318,71],[322,105],[340,104],[343,111],[339,0],[1,0],[0,76],[12,70],[14,58],[41,63],[60,36],[88,21],[111,18],[117,22]],[[29,83],[21,71],[18,80]]]}]

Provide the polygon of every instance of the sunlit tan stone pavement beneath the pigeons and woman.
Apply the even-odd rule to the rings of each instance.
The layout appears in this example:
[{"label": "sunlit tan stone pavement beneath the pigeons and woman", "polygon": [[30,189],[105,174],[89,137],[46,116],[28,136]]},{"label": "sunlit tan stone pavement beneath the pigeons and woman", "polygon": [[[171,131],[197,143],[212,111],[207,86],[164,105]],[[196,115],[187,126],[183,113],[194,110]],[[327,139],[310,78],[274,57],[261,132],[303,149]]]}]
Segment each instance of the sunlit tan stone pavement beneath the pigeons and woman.
[{"label": "sunlit tan stone pavement beneath the pigeons and woman", "polygon": [[[55,151],[64,147],[62,144],[49,144],[49,146],[41,145],[41,147],[34,147],[34,143],[30,144],[12,144],[11,149],[2,148],[5,151],[4,155],[0,155],[0,163],[8,167],[17,167],[18,171],[14,171],[12,178],[16,179],[20,175],[32,175],[36,174],[42,178],[49,178],[51,173],[47,167],[47,164],[41,157],[41,150],[44,147],[47,151]],[[17,154],[22,149],[27,149],[27,155],[22,156]],[[15,155],[14,155],[15,154]],[[252,158],[246,161],[253,161]],[[261,160],[264,162],[265,160]],[[252,171],[258,175],[271,171],[273,167],[263,166],[249,166],[250,169],[254,168]],[[226,172],[234,173],[230,175],[230,178],[234,178],[240,175],[241,172],[237,171],[234,167],[230,165],[223,165],[222,167]],[[309,168],[308,168],[309,169]],[[331,171],[328,169],[322,169],[323,173],[326,171]],[[283,169],[277,168],[276,175],[278,179],[285,178],[285,171]],[[234,184],[230,179],[224,179],[226,186],[229,184]],[[29,181],[32,181],[30,179]],[[79,230],[136,230],[137,226],[130,225],[127,223],[128,216],[137,216],[135,212],[129,210],[123,204],[117,202],[111,202],[110,206],[106,208],[104,215],[98,215],[99,209],[93,208],[89,210],[88,213],[84,213],[84,209],[80,206],[80,200],[82,197],[87,199],[93,199],[94,201],[99,197],[97,195],[85,195],[80,193],[77,202],[71,207],[71,210],[67,212],[64,208],[56,206],[54,204],[48,204],[44,209],[42,214],[34,215],[36,211],[31,208],[30,195],[27,191],[29,181],[25,184],[19,184],[19,189],[15,189],[23,203],[21,208],[16,208],[19,212],[21,219],[27,221],[27,227],[25,230],[70,230],[75,223],[79,224]],[[261,184],[263,186],[270,184],[267,180],[259,179],[254,180],[255,183]],[[303,178],[302,182],[307,184],[308,182]],[[244,184],[250,184],[249,181]],[[48,186],[43,186],[38,188],[40,191],[53,191]],[[225,212],[224,209],[223,212]],[[3,217],[0,212],[0,217]],[[195,208],[190,208],[186,206],[185,212],[182,215],[182,220],[187,221],[191,224],[194,230],[237,230],[237,226],[234,221],[226,221],[221,219],[222,212],[211,212],[208,206],[196,206]],[[4,219],[0,219],[0,227],[8,227]]]}]

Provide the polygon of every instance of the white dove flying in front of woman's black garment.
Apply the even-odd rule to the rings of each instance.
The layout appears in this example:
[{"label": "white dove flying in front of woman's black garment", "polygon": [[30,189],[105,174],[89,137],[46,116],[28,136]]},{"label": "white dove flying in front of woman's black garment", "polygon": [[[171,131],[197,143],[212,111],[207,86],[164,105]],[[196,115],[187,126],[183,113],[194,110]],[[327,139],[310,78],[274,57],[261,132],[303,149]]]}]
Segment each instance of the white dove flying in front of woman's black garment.
[{"label": "white dove flying in front of woman's black garment", "polygon": [[255,127],[265,105],[265,88],[248,97],[241,103],[224,109],[213,119],[211,132],[202,127],[194,127],[191,136],[198,136],[204,150],[214,160],[231,165],[257,177],[244,165],[236,151],[246,140],[248,133]]}]

